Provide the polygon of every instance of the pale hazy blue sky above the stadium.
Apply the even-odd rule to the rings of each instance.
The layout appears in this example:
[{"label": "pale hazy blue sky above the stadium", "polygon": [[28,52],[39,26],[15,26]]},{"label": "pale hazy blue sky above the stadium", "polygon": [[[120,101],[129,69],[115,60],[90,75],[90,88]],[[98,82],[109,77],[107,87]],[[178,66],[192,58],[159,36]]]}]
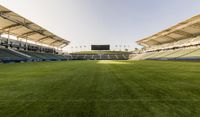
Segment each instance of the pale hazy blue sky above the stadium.
[{"label": "pale hazy blue sky above the stadium", "polygon": [[130,45],[200,13],[198,0],[0,0],[71,46]]}]

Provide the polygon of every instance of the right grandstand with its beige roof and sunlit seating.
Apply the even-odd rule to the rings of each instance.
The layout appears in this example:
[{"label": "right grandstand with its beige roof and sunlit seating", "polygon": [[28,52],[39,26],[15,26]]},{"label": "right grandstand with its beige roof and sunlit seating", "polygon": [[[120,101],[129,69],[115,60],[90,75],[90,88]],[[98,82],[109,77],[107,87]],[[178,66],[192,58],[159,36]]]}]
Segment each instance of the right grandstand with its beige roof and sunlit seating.
[{"label": "right grandstand with its beige roof and sunlit seating", "polygon": [[200,15],[137,41],[132,60],[200,60]]}]

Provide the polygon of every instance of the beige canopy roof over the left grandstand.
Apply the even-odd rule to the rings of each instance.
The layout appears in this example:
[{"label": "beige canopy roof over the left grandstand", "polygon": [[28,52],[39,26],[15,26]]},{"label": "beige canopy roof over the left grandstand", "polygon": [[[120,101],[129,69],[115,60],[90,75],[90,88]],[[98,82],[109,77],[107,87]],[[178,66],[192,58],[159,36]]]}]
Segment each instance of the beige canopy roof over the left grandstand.
[{"label": "beige canopy roof over the left grandstand", "polygon": [[0,5],[0,34],[9,34],[33,42],[61,47],[69,41],[49,32],[28,19]]}]

